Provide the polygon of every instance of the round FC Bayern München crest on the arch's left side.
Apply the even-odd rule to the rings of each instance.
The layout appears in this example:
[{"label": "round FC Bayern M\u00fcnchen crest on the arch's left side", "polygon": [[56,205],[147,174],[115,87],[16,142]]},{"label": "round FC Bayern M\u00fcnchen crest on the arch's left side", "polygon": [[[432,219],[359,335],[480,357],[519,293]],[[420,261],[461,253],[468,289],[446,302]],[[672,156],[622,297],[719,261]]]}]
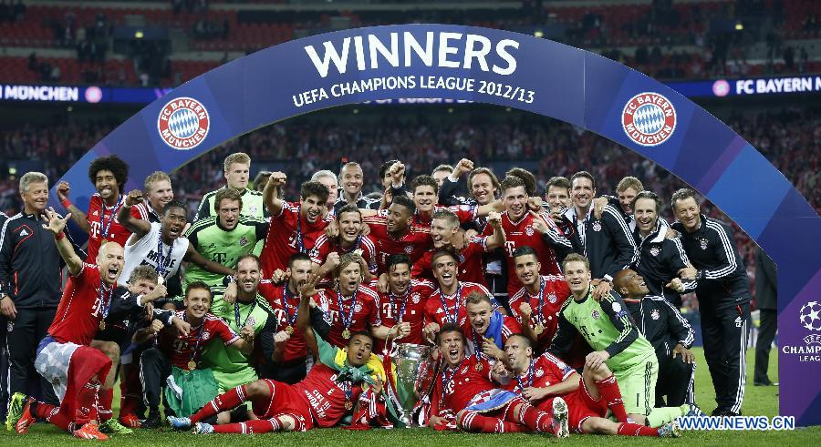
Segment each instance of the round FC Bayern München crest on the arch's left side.
[{"label": "round FC Bayern M\u00fcnchen crest on the arch's left side", "polygon": [[165,144],[177,150],[190,150],[208,136],[211,119],[200,101],[191,97],[171,99],[157,117],[157,130]]}]

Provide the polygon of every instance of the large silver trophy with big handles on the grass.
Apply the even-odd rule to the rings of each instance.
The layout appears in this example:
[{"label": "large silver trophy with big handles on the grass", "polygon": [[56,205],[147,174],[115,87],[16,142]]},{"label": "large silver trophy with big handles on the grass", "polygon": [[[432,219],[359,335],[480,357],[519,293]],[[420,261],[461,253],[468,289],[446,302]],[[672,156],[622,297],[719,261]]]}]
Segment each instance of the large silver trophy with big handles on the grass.
[{"label": "large silver trophy with big handles on the grass", "polygon": [[413,421],[417,402],[431,391],[436,363],[431,359],[432,348],[412,343],[396,345],[392,357],[396,371],[396,396],[400,420],[406,427],[419,426]]}]

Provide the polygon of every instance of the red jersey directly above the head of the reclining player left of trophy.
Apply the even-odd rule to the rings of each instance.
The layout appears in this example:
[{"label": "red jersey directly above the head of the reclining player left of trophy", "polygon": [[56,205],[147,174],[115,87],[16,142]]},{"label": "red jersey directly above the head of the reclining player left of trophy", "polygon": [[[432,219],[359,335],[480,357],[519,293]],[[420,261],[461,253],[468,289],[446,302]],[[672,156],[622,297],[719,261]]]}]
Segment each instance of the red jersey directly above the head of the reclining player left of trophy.
[{"label": "red jersey directly above the head of the reclining player left of trophy", "polygon": [[[327,342],[338,348],[347,348],[348,341],[350,341],[350,339],[342,337],[342,332],[346,330],[346,323],[348,323],[347,329],[351,334],[367,331],[370,326],[379,326],[381,324],[379,312],[376,310],[376,302],[379,300],[379,296],[375,290],[370,289],[368,286],[359,286],[356,301],[353,297],[345,297],[342,300],[341,312],[336,290],[319,290],[319,293],[314,295],[313,300],[317,303],[319,309],[325,312],[325,320],[330,325]],[[351,306],[353,306],[352,311]],[[349,321],[348,316],[350,316]]]}]

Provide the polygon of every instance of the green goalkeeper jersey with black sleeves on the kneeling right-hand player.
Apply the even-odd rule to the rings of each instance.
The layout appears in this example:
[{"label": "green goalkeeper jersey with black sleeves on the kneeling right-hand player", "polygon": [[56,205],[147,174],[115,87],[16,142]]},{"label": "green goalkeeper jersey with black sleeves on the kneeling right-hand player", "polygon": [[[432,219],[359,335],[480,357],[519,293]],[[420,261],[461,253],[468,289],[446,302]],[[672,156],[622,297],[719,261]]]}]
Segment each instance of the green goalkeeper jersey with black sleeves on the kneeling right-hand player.
[{"label": "green goalkeeper jersey with black sleeves on the kneeling right-hand player", "polygon": [[587,291],[584,300],[577,301],[571,296],[565,301],[550,350],[561,356],[579,333],[593,350],[608,351],[607,364],[613,372],[655,358],[653,346],[630,320],[624,301],[612,292],[600,301],[593,300],[591,292],[592,289]]}]

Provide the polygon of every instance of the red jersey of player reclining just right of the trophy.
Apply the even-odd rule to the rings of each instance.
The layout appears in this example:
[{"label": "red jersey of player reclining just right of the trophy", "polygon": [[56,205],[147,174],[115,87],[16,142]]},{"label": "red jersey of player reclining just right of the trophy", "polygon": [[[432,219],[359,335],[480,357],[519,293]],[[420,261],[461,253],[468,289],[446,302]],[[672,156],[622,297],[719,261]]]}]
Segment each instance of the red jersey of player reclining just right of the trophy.
[{"label": "red jersey of player reclining just right of the trophy", "polygon": [[[477,365],[481,365],[477,367]],[[462,411],[476,394],[499,388],[493,381],[493,368],[486,360],[465,357],[455,368],[442,368],[431,394],[431,414]]]}]

